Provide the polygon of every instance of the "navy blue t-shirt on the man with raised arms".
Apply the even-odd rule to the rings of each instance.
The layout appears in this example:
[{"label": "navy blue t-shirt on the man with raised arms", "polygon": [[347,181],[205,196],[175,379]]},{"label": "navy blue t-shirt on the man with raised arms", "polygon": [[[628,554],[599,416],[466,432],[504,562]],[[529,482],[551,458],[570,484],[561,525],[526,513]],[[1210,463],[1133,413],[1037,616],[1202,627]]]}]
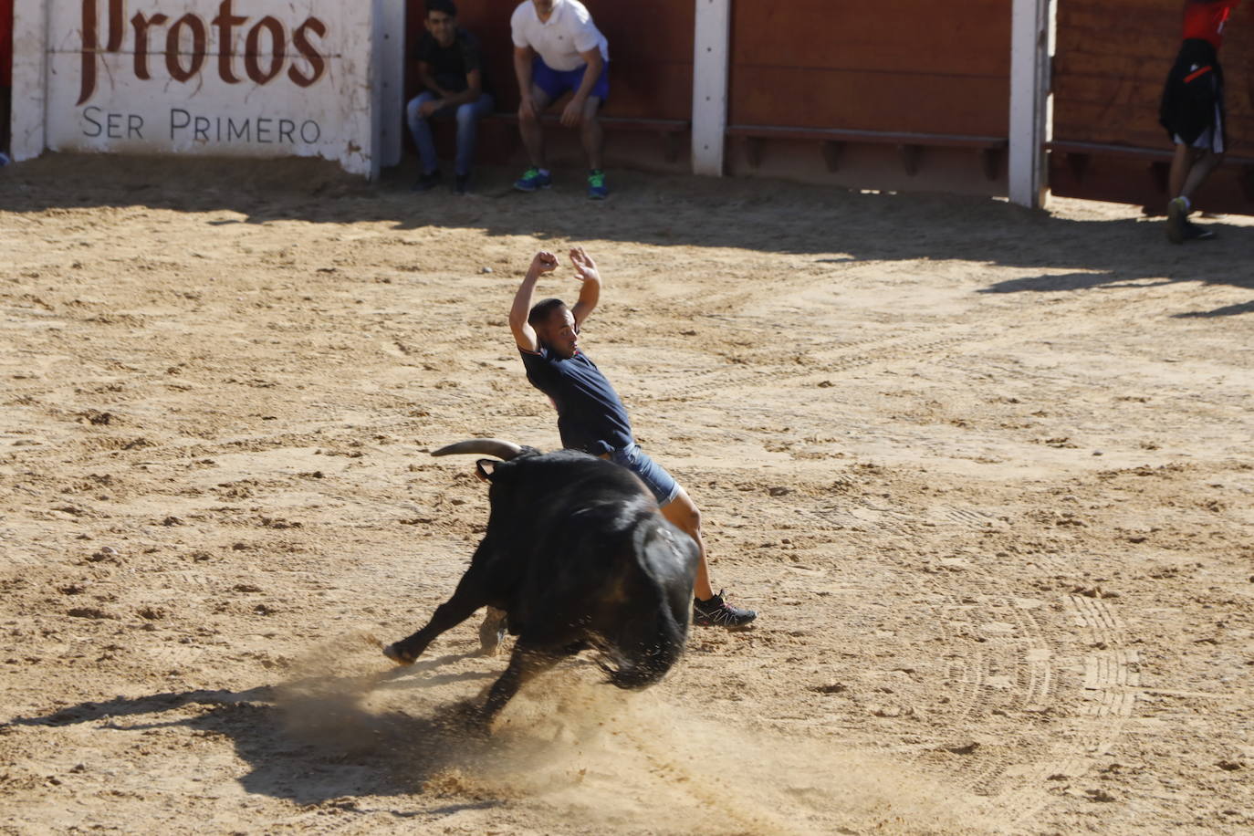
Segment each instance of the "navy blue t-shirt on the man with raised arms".
[{"label": "navy blue t-shirt on the man with raised arms", "polygon": [[518,350],[532,386],[557,406],[562,446],[594,456],[633,444],[627,409],[597,365],[582,351],[569,360],[540,346],[539,352]]}]

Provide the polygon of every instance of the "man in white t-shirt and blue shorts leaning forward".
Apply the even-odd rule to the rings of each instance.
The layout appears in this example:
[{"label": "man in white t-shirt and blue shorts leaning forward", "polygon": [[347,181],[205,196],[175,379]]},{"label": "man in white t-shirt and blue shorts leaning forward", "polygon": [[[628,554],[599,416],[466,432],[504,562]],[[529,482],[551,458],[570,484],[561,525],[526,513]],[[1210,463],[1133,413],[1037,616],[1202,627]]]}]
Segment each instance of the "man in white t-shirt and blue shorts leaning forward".
[{"label": "man in white t-shirt and blue shorts leaning forward", "polygon": [[562,110],[562,124],[579,128],[588,157],[588,197],[603,199],[609,192],[601,170],[603,138],[597,110],[609,95],[606,36],[578,0],[524,0],[514,9],[509,26],[522,95],[518,128],[532,163],[514,182],[514,188],[534,192],[552,185],[540,114],[567,90],[573,90],[569,104]]}]

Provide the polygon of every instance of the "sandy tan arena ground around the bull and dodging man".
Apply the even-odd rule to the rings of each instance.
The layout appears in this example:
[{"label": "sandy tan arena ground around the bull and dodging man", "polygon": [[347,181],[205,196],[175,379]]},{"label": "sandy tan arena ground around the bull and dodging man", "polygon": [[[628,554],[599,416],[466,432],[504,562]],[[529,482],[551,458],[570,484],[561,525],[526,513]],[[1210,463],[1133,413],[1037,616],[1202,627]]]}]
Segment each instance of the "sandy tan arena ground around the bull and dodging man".
[{"label": "sandy tan arena ground around the bull and dodging man", "polygon": [[[510,173],[0,172],[0,832],[1254,827],[1254,219]],[[464,739],[474,624],[377,643],[487,519],[426,452],[558,445],[505,313],[577,243],[584,348],[761,617]]]}]

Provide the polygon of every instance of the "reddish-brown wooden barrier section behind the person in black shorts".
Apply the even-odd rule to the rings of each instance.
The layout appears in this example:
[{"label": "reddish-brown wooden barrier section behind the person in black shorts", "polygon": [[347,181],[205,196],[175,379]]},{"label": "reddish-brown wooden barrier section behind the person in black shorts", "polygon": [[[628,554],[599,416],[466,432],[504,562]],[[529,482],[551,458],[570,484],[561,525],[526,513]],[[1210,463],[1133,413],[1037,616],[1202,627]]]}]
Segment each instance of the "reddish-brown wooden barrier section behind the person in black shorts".
[{"label": "reddish-brown wooden barrier section behind the person in black shorts", "polygon": [[[1180,49],[1184,0],[1058,0],[1053,61],[1055,194],[1161,211],[1171,140],[1159,100]],[[1254,8],[1233,14],[1219,53],[1226,81],[1229,162],[1198,196],[1203,208],[1254,212]],[[1145,153],[1080,143],[1130,147]]]}]

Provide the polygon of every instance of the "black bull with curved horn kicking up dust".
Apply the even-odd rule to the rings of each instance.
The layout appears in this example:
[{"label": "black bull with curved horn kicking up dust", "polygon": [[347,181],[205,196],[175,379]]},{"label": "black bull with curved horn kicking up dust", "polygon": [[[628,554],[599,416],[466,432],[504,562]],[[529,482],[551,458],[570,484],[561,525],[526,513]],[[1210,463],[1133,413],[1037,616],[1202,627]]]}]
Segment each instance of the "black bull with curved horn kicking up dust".
[{"label": "black bull with curved horn kicking up dust", "polygon": [[453,597],[431,620],[384,653],[410,664],[480,607],[485,651],[502,613],[518,639],[479,718],[488,723],[530,678],[584,649],[619,688],[645,688],[678,659],[692,614],[696,543],[671,525],[626,468],[583,452],[542,454],[480,439],[431,455],[478,452],[492,484],[488,530]]}]

